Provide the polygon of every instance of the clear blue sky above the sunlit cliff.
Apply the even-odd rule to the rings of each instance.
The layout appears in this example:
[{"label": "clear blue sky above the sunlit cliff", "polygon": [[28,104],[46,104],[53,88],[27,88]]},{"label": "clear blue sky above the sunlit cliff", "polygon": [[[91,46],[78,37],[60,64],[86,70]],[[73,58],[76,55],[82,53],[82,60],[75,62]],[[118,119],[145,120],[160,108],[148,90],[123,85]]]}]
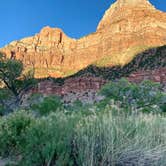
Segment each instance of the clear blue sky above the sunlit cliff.
[{"label": "clear blue sky above the sunlit cliff", "polygon": [[[0,47],[33,36],[44,26],[69,37],[95,32],[105,10],[116,0],[0,0]],[[166,12],[166,0],[150,0]]]}]

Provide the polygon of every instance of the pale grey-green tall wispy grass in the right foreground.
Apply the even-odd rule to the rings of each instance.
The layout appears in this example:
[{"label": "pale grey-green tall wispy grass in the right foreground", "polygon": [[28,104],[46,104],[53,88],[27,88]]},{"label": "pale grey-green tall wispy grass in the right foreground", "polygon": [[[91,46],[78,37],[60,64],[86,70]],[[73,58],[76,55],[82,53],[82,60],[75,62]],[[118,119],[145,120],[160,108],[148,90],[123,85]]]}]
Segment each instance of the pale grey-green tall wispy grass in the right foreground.
[{"label": "pale grey-green tall wispy grass in the right foreground", "polygon": [[80,121],[76,128],[78,165],[166,164],[166,119],[157,115],[114,116]]}]

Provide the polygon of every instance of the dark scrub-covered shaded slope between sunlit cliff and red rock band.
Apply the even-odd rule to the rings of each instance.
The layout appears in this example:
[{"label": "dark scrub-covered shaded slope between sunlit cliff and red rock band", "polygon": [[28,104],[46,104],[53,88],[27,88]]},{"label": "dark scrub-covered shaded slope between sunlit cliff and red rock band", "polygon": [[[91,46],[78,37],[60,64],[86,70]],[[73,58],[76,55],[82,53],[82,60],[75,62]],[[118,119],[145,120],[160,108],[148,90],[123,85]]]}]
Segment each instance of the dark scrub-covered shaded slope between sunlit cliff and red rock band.
[{"label": "dark scrub-covered shaded slope between sunlit cliff and red rock band", "polygon": [[[87,68],[80,70],[74,75],[65,78],[45,78],[51,79],[56,83],[63,84],[65,80],[69,78],[82,77],[82,76],[93,76],[101,77],[106,80],[115,80],[121,77],[128,77],[133,72],[138,70],[147,71],[155,70],[166,67],[166,45],[148,49],[142,53],[139,53],[135,58],[125,66],[115,67],[98,67],[90,65]],[[40,79],[40,80],[45,80]]]}]

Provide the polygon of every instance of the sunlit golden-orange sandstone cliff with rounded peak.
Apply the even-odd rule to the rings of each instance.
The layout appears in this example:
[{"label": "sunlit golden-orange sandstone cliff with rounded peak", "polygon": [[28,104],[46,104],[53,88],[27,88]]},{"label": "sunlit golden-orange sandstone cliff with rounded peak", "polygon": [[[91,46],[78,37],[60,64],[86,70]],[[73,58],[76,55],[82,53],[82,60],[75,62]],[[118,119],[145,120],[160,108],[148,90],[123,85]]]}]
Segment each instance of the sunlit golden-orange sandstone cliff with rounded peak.
[{"label": "sunlit golden-orange sandstone cliff with rounded peak", "polygon": [[130,62],[149,47],[166,44],[166,13],[148,0],[117,0],[105,13],[95,33],[69,38],[57,28],[14,41],[0,49],[21,60],[35,77],[65,77],[90,64],[116,66]]}]

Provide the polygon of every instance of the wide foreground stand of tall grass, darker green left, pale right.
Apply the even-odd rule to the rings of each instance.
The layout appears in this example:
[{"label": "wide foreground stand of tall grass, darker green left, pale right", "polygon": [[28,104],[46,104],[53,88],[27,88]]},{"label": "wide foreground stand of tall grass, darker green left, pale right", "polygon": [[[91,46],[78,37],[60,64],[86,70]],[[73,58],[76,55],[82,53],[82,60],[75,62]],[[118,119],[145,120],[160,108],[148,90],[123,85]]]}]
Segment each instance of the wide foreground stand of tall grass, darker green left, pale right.
[{"label": "wide foreground stand of tall grass, darker green left, pale right", "polygon": [[[121,111],[107,108],[84,116],[57,112],[30,118],[31,124],[17,130],[17,136],[12,126],[24,112],[1,118],[0,138],[6,145],[1,154],[12,150],[14,140],[24,166],[165,166],[166,117]],[[26,116],[32,115],[25,114],[24,121]]]}]

